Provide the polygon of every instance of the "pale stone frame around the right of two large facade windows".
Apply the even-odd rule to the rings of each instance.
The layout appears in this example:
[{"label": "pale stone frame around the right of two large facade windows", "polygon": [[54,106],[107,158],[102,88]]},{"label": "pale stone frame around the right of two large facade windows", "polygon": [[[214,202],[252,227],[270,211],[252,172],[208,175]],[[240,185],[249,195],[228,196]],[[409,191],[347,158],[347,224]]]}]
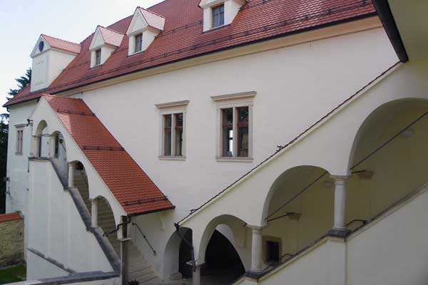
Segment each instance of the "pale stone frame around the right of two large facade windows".
[{"label": "pale stone frame around the right of two large facade windows", "polygon": [[[227,95],[211,96],[211,100],[217,103],[216,136],[215,136],[215,159],[219,162],[253,162],[253,99],[257,93],[255,91],[233,93]],[[238,157],[238,112],[237,108],[248,107],[248,157]],[[223,156],[223,125],[222,110],[233,108],[233,156]]]}]

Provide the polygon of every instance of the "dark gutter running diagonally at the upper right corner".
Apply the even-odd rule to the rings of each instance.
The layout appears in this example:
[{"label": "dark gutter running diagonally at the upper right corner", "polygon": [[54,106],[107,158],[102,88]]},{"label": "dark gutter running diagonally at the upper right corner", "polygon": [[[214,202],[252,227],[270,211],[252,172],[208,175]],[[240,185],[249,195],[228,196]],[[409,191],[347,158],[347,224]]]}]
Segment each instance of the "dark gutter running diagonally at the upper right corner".
[{"label": "dark gutter running diagonally at the upper right corner", "polygon": [[397,24],[395,23],[394,16],[392,15],[391,8],[389,7],[388,0],[372,0],[374,8],[379,14],[379,19],[382,21],[385,31],[389,41],[392,43],[395,53],[399,58],[399,61],[405,63],[409,61],[409,56],[407,56],[406,48],[404,48],[404,43],[399,34]]}]

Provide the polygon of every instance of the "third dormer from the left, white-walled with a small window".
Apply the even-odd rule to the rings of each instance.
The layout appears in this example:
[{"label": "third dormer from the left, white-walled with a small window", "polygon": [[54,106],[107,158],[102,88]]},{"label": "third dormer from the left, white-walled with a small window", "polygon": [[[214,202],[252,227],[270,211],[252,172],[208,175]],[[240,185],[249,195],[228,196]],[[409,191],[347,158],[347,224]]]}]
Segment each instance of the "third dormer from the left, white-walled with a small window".
[{"label": "third dormer from the left, white-walled with a small window", "polygon": [[137,7],[126,35],[129,37],[128,56],[146,51],[165,25],[165,18],[161,15]]}]

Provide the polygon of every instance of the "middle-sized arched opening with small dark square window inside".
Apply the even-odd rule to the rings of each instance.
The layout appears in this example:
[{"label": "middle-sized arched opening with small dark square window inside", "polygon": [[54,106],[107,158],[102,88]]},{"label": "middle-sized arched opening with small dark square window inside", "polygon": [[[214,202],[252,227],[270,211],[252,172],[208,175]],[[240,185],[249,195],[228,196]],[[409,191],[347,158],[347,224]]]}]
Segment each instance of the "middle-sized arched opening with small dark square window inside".
[{"label": "middle-sized arched opening with small dark square window inside", "polygon": [[283,261],[327,234],[334,217],[330,173],[316,166],[293,167],[270,187],[265,201],[265,265]]}]

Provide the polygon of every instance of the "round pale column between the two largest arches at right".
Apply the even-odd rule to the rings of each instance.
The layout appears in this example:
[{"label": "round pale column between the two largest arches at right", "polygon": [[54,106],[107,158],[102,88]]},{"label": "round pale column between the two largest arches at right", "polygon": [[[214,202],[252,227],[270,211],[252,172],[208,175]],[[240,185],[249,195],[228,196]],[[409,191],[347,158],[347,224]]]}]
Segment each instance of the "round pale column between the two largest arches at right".
[{"label": "round pale column between the two largest arches at right", "polygon": [[346,232],[346,185],[347,176],[332,176],[335,180],[335,223],[334,231]]}]

